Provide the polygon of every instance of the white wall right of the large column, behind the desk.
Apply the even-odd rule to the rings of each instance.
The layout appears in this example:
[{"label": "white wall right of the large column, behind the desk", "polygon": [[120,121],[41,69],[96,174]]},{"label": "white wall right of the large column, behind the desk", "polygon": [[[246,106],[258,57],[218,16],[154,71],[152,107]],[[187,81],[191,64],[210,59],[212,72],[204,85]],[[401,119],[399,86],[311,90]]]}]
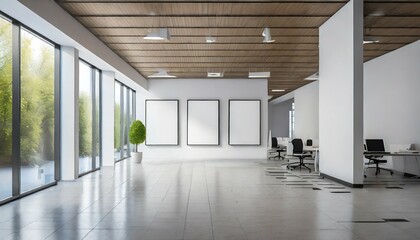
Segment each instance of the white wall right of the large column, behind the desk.
[{"label": "white wall right of the large column, behind the desk", "polygon": [[[420,41],[365,63],[365,138],[390,144],[416,144],[420,149]],[[420,159],[420,158],[419,158]],[[412,159],[394,161],[397,170],[418,174]]]}]

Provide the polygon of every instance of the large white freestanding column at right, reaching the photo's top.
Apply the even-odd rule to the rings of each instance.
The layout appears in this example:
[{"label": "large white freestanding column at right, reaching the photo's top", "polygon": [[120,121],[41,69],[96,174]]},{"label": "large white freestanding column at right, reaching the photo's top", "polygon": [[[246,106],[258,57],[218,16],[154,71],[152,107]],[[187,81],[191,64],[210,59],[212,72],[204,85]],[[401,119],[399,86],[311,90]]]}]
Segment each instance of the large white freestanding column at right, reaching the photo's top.
[{"label": "large white freestanding column at right, reaching the photo's top", "polygon": [[351,0],[319,32],[320,171],[363,184],[363,1]]}]

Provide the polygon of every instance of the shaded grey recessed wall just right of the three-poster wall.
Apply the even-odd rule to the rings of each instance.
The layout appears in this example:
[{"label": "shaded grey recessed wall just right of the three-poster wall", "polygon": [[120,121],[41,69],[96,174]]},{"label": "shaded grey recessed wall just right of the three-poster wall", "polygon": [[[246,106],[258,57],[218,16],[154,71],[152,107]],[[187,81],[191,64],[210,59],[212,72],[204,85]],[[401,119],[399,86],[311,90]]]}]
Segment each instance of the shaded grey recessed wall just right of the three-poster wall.
[{"label": "shaded grey recessed wall just right of the three-poster wall", "polygon": [[292,110],[293,99],[269,104],[268,129],[272,137],[289,137],[289,111]]}]

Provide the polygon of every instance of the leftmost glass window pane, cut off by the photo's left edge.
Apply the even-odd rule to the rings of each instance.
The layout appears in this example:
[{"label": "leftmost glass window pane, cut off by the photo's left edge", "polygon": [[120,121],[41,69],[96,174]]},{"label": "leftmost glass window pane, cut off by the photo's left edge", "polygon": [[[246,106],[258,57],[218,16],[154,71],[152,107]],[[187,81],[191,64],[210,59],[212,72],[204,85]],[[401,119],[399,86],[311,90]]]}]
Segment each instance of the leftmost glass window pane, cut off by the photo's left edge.
[{"label": "leftmost glass window pane, cut off by the photo's left edge", "polygon": [[12,23],[0,17],[0,200],[12,196]]}]

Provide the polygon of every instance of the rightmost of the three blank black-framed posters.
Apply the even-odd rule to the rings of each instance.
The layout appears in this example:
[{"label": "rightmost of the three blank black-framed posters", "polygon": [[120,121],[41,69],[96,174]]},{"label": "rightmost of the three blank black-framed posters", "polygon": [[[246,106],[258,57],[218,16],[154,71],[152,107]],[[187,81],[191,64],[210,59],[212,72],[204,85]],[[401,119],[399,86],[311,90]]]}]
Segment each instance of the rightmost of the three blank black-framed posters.
[{"label": "rightmost of the three blank black-framed posters", "polygon": [[229,100],[228,121],[229,145],[261,145],[261,100]]}]

